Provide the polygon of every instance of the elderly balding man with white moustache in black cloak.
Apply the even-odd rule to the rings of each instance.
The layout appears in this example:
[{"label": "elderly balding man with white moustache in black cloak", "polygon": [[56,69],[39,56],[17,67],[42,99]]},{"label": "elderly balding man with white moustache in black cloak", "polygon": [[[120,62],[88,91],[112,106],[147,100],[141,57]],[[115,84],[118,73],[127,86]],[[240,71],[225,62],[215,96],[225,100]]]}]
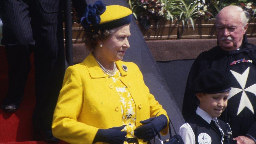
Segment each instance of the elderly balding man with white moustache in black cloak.
[{"label": "elderly balding man with white moustache in black cloak", "polygon": [[231,79],[228,106],[220,119],[229,122],[237,143],[256,142],[256,46],[246,38],[248,18],[238,6],[223,8],[216,18],[217,46],[194,61],[187,80],[182,114],[194,113],[199,101],[191,92],[195,78],[206,69],[225,71]]}]

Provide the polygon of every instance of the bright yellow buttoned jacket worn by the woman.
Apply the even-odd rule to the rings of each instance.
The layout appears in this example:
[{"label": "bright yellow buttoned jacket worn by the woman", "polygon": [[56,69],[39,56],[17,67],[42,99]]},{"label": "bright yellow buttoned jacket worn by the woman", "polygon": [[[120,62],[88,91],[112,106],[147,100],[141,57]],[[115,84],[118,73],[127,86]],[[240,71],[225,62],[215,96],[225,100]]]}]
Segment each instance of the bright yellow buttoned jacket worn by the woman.
[{"label": "bright yellow buttoned jacket worn by the woman", "polygon": [[[126,65],[128,71],[124,71]],[[166,111],[150,94],[138,66],[117,61],[120,80],[127,86],[136,105],[136,127],[139,121]],[[111,78],[106,78],[94,56],[67,68],[54,111],[53,135],[69,143],[92,143],[98,129],[122,125],[118,94]],[[168,127],[161,131],[168,133]],[[139,143],[146,143],[138,139]]]}]

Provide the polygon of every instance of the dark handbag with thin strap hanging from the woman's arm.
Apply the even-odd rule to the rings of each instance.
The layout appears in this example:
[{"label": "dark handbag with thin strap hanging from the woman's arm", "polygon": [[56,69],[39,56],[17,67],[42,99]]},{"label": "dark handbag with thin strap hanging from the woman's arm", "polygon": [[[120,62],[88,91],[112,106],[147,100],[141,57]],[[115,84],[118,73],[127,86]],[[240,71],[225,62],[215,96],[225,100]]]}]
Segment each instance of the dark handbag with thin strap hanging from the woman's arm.
[{"label": "dark handbag with thin strap hanging from the woman's arm", "polygon": [[[168,118],[169,118],[169,117],[168,117]],[[173,130],[174,130],[175,135],[172,136],[170,124],[172,124],[172,121],[171,121],[171,119],[169,118],[168,128],[169,128],[170,138],[166,139],[166,141],[163,142],[162,139],[161,139],[160,134],[159,134],[159,133],[157,134],[157,135],[158,135],[158,138],[159,138],[159,141],[161,142],[161,144],[184,144],[184,141],[182,140],[181,136],[176,133],[173,124],[172,124],[172,127],[173,127]]]}]

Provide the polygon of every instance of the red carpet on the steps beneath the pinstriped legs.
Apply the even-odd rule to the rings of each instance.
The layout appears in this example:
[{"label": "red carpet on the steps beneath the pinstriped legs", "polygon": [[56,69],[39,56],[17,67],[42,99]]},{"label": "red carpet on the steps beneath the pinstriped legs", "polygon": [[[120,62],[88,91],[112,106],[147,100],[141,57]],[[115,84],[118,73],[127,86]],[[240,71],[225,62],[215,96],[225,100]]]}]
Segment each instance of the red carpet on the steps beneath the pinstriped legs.
[{"label": "red carpet on the steps beneath the pinstriped legs", "polygon": [[[0,109],[0,143],[36,143],[45,144],[47,142],[33,141],[32,113],[35,107],[35,87],[34,87],[34,60],[31,59],[31,71],[25,87],[24,99],[20,108],[14,113],[4,112]],[[0,103],[6,97],[8,90],[8,64],[4,47],[0,46]],[[65,143],[65,142],[59,142]]]}]

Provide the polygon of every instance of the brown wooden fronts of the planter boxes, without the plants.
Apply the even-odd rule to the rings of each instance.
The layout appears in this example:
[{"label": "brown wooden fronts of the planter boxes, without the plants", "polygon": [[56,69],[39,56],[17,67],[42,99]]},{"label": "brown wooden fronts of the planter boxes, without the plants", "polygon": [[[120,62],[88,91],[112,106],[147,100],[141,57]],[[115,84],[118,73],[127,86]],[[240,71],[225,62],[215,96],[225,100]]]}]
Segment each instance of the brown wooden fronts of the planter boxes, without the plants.
[{"label": "brown wooden fronts of the planter boxes, without the plants", "polygon": [[[215,19],[211,20],[194,20],[195,30],[192,25],[178,24],[176,20],[172,23],[170,20],[159,21],[158,28],[155,21],[151,21],[151,26],[148,30],[144,29],[137,22],[141,33],[145,40],[174,40],[174,39],[212,39],[217,38]],[[64,25],[64,24],[63,24]],[[63,28],[63,32],[65,28]],[[81,24],[73,23],[73,44],[84,43],[84,29]],[[250,20],[247,29],[247,37],[256,37],[256,18]],[[64,34],[65,41],[65,34]]]}]

